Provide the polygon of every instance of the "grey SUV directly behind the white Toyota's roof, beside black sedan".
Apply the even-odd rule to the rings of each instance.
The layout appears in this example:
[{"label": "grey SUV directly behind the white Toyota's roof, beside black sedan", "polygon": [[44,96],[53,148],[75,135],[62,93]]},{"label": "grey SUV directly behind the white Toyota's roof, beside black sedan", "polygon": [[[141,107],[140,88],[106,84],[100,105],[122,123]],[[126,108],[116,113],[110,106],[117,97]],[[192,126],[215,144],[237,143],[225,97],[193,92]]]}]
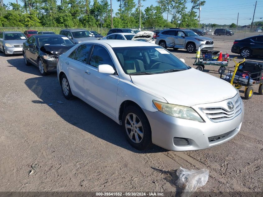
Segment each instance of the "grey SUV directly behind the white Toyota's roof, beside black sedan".
[{"label": "grey SUV directly behind the white Toyota's roof, beside black sedan", "polygon": [[75,44],[87,41],[97,40],[90,31],[84,29],[63,29],[59,33],[60,35],[67,36]]}]

